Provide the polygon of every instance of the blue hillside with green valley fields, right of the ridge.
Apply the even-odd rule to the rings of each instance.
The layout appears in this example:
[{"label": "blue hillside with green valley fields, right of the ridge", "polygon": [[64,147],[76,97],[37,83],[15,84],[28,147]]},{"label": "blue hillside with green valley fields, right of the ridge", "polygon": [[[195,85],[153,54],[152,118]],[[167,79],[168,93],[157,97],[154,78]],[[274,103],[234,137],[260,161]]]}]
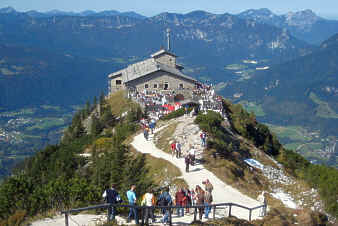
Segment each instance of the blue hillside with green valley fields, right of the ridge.
[{"label": "blue hillside with green valley fields, right of the ridge", "polygon": [[[335,35],[312,54],[251,70],[246,80],[231,81],[219,93],[254,110],[289,148],[309,160],[337,167],[337,59]],[[249,71],[234,71],[245,74],[245,70]]]}]

